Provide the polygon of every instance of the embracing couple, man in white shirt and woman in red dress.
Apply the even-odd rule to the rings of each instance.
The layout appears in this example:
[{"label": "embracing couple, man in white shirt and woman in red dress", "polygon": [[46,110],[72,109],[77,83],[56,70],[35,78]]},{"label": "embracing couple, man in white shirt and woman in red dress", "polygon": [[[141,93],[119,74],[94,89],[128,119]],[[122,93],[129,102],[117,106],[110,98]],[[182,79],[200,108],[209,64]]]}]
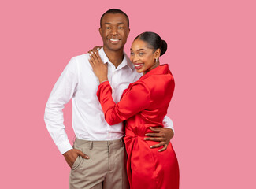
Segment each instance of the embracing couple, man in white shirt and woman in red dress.
[{"label": "embracing couple, man in white shirt and woman in red dress", "polygon": [[[71,167],[70,188],[179,188],[173,122],[166,117],[174,80],[159,60],[167,44],[143,32],[129,58],[129,31],[123,11],[106,11],[99,28],[103,47],[73,57],[46,104],[46,127]],[[70,99],[73,146],[62,112]]]}]

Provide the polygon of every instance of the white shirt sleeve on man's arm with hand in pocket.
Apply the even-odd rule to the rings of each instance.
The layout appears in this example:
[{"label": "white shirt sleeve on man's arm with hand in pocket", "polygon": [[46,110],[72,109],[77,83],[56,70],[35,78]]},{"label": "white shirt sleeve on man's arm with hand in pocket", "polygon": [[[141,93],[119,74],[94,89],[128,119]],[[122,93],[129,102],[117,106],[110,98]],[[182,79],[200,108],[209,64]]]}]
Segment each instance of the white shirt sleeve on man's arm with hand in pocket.
[{"label": "white shirt sleeve on man's arm with hand in pocket", "polygon": [[44,114],[46,128],[61,154],[72,149],[68,135],[65,132],[62,109],[64,109],[65,104],[72,98],[72,95],[76,93],[78,83],[76,66],[76,59],[73,57],[55,83],[46,103]]}]

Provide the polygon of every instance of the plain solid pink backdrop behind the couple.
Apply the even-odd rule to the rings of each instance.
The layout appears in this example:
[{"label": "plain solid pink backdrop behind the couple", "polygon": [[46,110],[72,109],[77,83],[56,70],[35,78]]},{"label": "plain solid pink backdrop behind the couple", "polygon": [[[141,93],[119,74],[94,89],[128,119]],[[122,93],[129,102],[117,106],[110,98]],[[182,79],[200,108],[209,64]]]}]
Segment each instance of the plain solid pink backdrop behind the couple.
[{"label": "plain solid pink backdrop behind the couple", "polygon": [[[132,39],[169,44],[176,90],[169,107],[180,188],[256,188],[255,1],[5,1],[1,19],[1,188],[69,188],[69,166],[44,108],[71,57],[102,45],[99,18],[123,9]],[[71,102],[65,125],[72,141]]]}]

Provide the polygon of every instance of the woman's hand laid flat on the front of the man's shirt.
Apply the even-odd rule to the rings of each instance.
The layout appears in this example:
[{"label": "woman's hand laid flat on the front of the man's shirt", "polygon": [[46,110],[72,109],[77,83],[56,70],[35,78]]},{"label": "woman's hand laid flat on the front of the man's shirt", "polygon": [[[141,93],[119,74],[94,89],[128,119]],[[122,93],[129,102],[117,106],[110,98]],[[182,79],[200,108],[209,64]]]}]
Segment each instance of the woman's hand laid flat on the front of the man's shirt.
[{"label": "woman's hand laid flat on the front of the man's shirt", "polygon": [[98,50],[92,50],[90,57],[89,62],[95,72],[95,76],[98,77],[99,83],[108,80],[108,65],[102,62],[102,58],[98,55]]}]

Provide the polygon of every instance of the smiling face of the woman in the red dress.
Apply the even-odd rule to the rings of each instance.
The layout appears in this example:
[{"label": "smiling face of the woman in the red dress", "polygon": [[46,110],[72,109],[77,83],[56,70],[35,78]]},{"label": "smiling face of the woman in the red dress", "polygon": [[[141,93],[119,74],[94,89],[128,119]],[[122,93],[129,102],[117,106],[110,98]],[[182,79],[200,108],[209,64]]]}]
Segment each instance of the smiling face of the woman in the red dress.
[{"label": "smiling face of the woman in the red dress", "polygon": [[147,42],[140,39],[133,41],[130,59],[137,72],[146,74],[151,69],[156,68],[159,65],[159,61],[155,61],[155,59],[158,59],[159,56],[160,50],[154,50]]}]

